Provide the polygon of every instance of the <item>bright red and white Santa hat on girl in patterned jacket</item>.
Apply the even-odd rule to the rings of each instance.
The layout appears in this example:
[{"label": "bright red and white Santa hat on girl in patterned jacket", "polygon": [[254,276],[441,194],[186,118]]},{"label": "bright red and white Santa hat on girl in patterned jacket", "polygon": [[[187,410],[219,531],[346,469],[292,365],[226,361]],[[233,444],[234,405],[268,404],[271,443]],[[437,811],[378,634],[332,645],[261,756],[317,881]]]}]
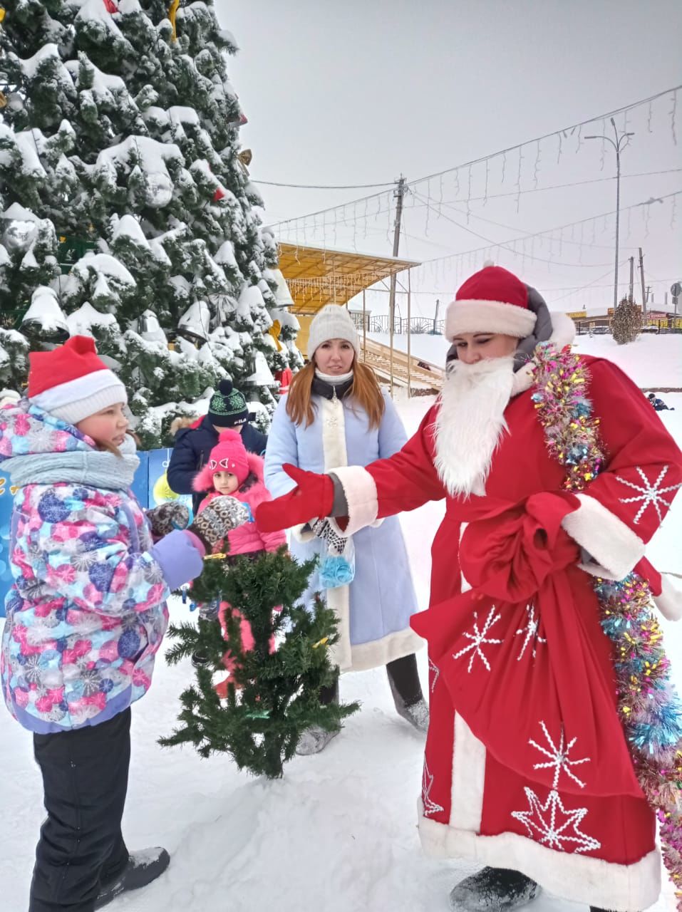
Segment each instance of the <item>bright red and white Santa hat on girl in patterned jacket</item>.
[{"label": "bright red and white Santa hat on girl in patterned jacket", "polygon": [[128,402],[126,388],[98,358],[89,336],[72,336],[52,351],[31,352],[28,359],[29,401],[67,424]]}]

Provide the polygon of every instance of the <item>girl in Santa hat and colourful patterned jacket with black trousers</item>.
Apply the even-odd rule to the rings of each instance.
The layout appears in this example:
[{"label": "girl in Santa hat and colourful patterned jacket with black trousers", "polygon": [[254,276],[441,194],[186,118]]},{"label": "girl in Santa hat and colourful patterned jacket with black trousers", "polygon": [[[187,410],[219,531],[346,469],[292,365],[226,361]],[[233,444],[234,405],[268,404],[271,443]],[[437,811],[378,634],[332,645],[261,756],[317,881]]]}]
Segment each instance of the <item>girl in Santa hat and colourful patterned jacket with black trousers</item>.
[{"label": "girl in Santa hat and colourful patterned jacket with black trousers", "polygon": [[29,358],[27,398],[0,409],[16,488],[0,672],[47,808],[29,912],[93,912],[169,864],[164,849],[129,854],[121,834],[130,704],[150,687],[166,599],[247,514],[222,498],[189,529],[176,504],[145,515],[129,491],[126,390],[94,341]]}]

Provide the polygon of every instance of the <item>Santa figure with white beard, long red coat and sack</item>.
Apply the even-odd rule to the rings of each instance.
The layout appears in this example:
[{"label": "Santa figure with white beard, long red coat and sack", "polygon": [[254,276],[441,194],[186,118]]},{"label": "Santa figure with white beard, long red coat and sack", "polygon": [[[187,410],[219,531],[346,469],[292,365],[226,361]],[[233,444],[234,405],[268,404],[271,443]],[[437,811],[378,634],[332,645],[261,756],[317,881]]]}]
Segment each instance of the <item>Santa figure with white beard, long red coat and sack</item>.
[{"label": "Santa figure with white beard, long red coat and sack", "polygon": [[[644,554],[682,482],[682,453],[603,358],[571,355],[573,373],[550,371],[540,389],[532,345],[522,351],[529,338],[568,351],[573,323],[552,315],[541,333],[539,320],[516,276],[497,266],[471,276],[446,316],[456,357],[415,436],[366,468],[292,470],[298,487],[256,519],[271,528],[343,515],[352,534],[446,498],[429,610],[412,620],[429,641],[422,845],[485,865],[452,891],[456,909],[522,905],[540,885],[635,912],[656,902],[661,857],[595,583],[636,571],[668,615],[677,610]],[[584,416],[569,421],[573,454],[557,430],[572,383],[598,428],[598,465],[571,436]]]}]

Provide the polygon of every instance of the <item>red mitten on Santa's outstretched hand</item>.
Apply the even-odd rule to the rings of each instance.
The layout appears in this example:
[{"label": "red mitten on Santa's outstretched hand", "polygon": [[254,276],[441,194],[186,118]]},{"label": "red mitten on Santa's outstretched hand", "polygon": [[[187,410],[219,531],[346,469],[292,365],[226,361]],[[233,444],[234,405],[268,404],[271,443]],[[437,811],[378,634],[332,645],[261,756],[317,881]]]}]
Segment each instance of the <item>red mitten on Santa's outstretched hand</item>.
[{"label": "red mitten on Santa's outstretched hand", "polygon": [[274,501],[256,507],[256,527],[259,532],[275,532],[293,525],[307,523],[318,516],[328,516],[334,505],[334,482],[329,475],[305,472],[285,462],[284,472],[294,479],[296,487]]}]

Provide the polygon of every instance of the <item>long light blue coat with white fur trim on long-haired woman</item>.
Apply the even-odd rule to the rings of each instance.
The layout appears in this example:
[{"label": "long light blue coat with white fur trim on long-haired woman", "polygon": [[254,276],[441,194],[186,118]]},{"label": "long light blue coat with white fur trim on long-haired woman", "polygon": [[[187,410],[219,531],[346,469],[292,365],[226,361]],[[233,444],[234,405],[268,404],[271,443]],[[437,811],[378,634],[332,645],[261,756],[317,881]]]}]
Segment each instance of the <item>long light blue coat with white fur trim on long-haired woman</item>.
[{"label": "long light blue coat with white fur trim on long-haired woman", "polygon": [[[313,396],[314,422],[296,427],[286,414],[283,397],[265,451],[265,484],[273,496],[294,487],[282,468],[284,462],[309,472],[327,472],[340,465],[364,467],[400,450],[407,435],[392,400],[384,398],[381,424],[370,429],[367,414],[352,399],[320,396]],[[353,536],[356,575],[350,586],[322,593],[339,619],[340,641],[334,658],[342,671],[386,665],[413,653],[422,642],[409,627],[418,606],[398,517],[379,523]],[[321,542],[312,534],[294,530],[290,548],[297,560],[305,561],[320,553]],[[315,571],[305,593],[308,603],[316,591],[319,577]]]}]

